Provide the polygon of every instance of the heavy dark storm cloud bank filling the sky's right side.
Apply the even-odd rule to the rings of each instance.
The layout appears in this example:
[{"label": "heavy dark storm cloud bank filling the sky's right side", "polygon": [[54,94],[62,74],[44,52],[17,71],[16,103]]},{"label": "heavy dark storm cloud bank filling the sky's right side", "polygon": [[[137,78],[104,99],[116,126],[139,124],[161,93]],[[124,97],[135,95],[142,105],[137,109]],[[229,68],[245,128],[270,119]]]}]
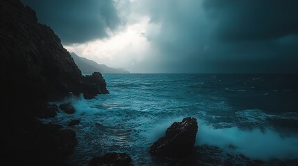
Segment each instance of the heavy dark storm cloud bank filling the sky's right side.
[{"label": "heavy dark storm cloud bank filling the sky's right side", "polygon": [[[150,7],[160,68],[183,73],[298,72],[298,1],[185,0]],[[151,11],[151,12],[150,12]],[[165,69],[166,68],[166,69]]]}]

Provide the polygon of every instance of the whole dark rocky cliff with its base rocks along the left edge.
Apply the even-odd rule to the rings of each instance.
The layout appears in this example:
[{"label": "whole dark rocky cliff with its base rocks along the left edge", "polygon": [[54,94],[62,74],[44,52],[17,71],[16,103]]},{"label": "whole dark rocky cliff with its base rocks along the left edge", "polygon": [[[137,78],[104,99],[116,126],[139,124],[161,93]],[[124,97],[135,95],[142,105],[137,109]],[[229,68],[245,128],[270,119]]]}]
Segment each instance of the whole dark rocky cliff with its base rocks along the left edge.
[{"label": "whole dark rocky cliff with its base rocks along the left edge", "polygon": [[48,100],[70,92],[85,98],[108,93],[104,78],[82,76],[58,36],[19,0],[0,1],[0,56],[0,165],[64,165],[75,133],[41,124],[35,116]]}]

